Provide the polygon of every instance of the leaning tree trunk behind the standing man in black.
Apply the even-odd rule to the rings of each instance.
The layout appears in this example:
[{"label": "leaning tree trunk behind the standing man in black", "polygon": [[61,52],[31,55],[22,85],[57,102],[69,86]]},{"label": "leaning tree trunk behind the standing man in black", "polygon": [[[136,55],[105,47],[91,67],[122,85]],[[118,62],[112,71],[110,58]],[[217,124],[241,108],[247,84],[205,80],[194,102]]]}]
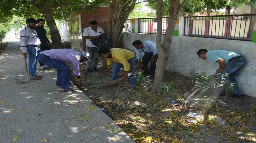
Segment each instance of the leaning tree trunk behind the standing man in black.
[{"label": "leaning tree trunk behind the standing man in black", "polygon": [[61,37],[56,25],[56,22],[51,14],[51,10],[48,8],[47,4],[41,3],[36,5],[38,9],[42,12],[45,21],[51,32],[51,39],[52,39],[52,48],[61,48]]}]

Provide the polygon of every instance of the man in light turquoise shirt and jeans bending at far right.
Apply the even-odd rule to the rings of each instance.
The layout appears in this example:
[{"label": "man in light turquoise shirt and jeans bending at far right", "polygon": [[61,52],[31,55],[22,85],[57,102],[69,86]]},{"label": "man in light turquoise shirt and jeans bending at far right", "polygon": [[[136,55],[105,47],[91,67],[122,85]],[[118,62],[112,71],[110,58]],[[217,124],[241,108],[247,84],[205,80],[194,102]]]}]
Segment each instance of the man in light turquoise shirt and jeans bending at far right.
[{"label": "man in light turquoise shirt and jeans bending at far right", "polygon": [[[217,75],[218,73],[228,73],[229,75],[229,81],[234,83],[233,86],[233,92],[230,97],[238,97],[241,98],[243,96],[242,91],[240,90],[237,81],[236,76],[238,75],[239,70],[241,67],[245,64],[245,59],[241,54],[237,54],[231,51],[225,51],[225,50],[212,50],[208,51],[206,49],[200,49],[197,52],[197,55],[199,58],[202,59],[209,59],[212,62],[216,62],[219,65],[219,68],[216,70],[214,75]],[[219,77],[220,78],[220,77]],[[224,90],[221,91],[219,94],[220,96],[225,95]]]}]

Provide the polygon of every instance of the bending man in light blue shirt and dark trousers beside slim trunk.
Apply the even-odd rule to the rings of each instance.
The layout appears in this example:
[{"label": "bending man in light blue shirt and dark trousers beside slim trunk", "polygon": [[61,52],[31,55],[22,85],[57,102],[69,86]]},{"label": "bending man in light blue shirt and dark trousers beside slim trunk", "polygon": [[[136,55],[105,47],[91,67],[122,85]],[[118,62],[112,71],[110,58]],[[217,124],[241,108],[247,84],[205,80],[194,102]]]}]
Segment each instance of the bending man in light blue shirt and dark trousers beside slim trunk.
[{"label": "bending man in light blue shirt and dark trousers beside slim trunk", "polygon": [[[150,78],[154,78],[155,70],[156,70],[156,61],[158,58],[158,53],[156,49],[156,43],[153,41],[140,41],[135,40],[132,43],[133,47],[135,47],[137,64],[143,64],[144,67],[142,70],[145,70],[144,73],[150,75]],[[142,57],[141,53],[144,52],[144,56]],[[142,58],[142,61],[141,61]],[[147,69],[147,65],[150,63],[150,69]]]}]

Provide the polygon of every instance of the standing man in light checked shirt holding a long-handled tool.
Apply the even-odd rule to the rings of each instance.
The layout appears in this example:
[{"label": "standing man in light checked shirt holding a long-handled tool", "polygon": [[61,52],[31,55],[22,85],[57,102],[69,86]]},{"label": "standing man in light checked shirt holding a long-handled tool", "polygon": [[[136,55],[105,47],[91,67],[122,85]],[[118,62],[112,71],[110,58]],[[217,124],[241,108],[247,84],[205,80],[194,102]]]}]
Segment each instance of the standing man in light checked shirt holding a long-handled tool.
[{"label": "standing man in light checked shirt holding a long-handled tool", "polygon": [[26,20],[26,24],[27,26],[19,32],[20,50],[22,50],[22,55],[24,57],[27,57],[28,55],[29,78],[41,79],[43,75],[36,74],[41,43],[37,32],[34,30],[37,20],[34,18],[28,18]]}]

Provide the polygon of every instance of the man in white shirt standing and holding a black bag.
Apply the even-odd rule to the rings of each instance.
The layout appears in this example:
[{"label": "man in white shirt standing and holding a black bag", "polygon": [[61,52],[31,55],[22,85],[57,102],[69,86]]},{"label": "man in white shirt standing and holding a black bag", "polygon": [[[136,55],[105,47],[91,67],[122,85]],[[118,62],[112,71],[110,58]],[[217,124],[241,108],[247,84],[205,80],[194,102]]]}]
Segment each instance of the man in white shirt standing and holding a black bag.
[{"label": "man in white shirt standing and holding a black bag", "polygon": [[91,69],[94,71],[99,71],[99,69],[97,69],[99,49],[93,43],[91,43],[90,39],[99,38],[101,34],[104,34],[104,31],[102,28],[97,26],[97,21],[95,20],[90,21],[90,27],[84,29],[83,36],[86,39],[86,52],[91,55],[91,59],[93,62],[93,65],[91,66],[91,62],[87,61],[87,72],[91,72]]}]

